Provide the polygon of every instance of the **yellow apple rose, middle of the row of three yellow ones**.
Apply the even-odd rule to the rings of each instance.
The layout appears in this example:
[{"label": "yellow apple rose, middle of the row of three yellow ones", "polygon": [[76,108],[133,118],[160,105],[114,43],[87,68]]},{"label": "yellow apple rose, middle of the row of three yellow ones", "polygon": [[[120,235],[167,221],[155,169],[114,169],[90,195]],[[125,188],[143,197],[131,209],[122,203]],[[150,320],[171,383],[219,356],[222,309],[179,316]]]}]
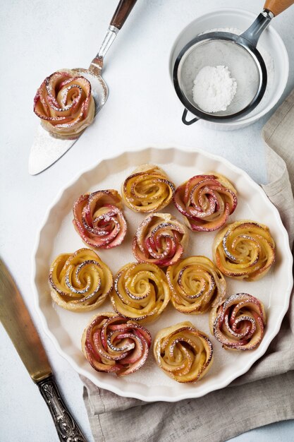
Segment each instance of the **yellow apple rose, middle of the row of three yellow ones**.
[{"label": "yellow apple rose, middle of the row of three yellow ones", "polygon": [[135,321],[155,321],[171,295],[164,272],[152,263],[128,263],[114,280],[111,302],[114,310]]}]

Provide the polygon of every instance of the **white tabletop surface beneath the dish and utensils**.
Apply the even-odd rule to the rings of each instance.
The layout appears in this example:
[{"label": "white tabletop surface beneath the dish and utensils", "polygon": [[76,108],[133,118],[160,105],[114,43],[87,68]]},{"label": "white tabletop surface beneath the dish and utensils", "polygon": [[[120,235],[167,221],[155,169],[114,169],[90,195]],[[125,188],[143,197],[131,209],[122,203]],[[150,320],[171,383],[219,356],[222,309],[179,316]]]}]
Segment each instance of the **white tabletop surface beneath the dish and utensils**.
[{"label": "white tabletop surface beneath the dish and utensils", "polygon": [[[216,132],[199,124],[184,126],[183,107],[173,92],[168,71],[173,41],[190,20],[225,6],[244,6],[259,13],[262,2],[256,0],[247,0],[245,5],[240,0],[138,0],[106,56],[104,78],[110,88],[106,106],[59,162],[36,177],[27,173],[30,144],[39,124],[32,112],[37,87],[59,68],[90,64],[116,4],[117,0],[4,0],[0,4],[1,258],[20,287],[61,392],[89,441],[92,435],[82,383],[44,335],[32,300],[31,255],[47,206],[80,169],[109,154],[149,143],[176,143],[188,149],[197,146],[223,155],[256,181],[267,181],[260,131],[269,115],[234,132]],[[294,86],[293,22],[294,7],[272,24],[290,58],[283,97]],[[47,406],[2,327],[0,335],[0,441],[57,441]],[[235,441],[290,441],[293,437],[293,422],[273,428],[268,433],[261,433],[267,429],[250,432]]]}]

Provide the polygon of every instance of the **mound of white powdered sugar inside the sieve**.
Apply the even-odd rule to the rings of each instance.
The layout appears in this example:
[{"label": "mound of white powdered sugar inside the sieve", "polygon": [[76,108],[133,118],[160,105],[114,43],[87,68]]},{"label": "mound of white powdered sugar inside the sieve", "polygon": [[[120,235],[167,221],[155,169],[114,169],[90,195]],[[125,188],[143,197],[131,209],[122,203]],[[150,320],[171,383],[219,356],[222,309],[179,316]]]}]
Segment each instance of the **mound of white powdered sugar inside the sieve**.
[{"label": "mound of white powdered sugar inside the sieve", "polygon": [[227,66],[204,66],[192,88],[193,100],[204,112],[225,111],[231,104],[237,82]]}]

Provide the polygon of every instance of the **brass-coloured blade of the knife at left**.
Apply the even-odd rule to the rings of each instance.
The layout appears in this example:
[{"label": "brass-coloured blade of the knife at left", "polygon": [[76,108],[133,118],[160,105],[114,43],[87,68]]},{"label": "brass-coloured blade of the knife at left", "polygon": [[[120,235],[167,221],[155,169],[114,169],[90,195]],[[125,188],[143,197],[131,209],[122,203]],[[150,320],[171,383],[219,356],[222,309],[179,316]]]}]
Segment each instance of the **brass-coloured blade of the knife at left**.
[{"label": "brass-coloured blade of the knife at left", "polygon": [[1,259],[0,320],[32,380],[37,383],[50,376],[51,366],[30,313]]}]

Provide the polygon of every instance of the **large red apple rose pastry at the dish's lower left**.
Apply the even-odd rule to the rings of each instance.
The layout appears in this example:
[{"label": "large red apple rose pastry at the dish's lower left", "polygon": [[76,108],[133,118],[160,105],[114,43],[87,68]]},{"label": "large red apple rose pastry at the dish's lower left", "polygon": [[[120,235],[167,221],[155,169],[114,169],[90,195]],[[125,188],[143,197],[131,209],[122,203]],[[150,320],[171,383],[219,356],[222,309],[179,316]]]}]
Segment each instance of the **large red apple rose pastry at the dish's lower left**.
[{"label": "large red apple rose pastry at the dish's lower left", "polygon": [[115,313],[99,313],[82,335],[82,352],[93,369],[117,376],[140,369],[150,345],[147,328]]}]

